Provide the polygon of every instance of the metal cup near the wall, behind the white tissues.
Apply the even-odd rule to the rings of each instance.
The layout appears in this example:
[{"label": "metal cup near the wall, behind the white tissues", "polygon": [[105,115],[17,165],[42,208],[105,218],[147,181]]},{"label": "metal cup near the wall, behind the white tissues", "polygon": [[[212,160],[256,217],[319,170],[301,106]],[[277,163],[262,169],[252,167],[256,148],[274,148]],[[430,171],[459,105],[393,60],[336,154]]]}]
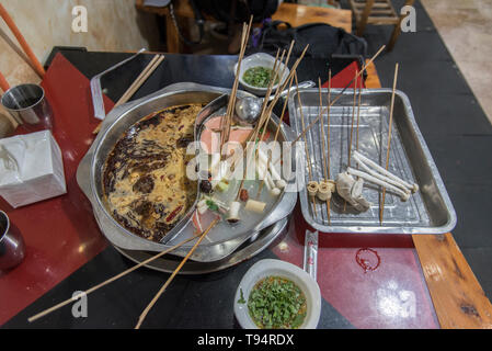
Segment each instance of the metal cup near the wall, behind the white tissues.
[{"label": "metal cup near the wall, behind the white tissues", "polygon": [[45,91],[37,84],[20,84],[10,88],[2,95],[2,105],[25,127],[52,128],[52,106]]}]

